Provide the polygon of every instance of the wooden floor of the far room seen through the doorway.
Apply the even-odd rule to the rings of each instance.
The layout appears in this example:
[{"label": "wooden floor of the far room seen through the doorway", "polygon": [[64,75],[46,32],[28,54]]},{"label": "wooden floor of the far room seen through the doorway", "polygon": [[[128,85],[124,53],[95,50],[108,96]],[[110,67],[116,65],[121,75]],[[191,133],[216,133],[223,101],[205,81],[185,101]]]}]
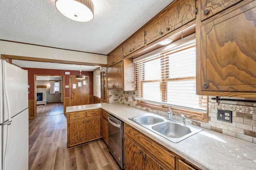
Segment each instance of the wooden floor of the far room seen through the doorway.
[{"label": "wooden floor of the far room seen through the doorway", "polygon": [[63,103],[48,103],[36,106],[36,117],[63,114]]}]

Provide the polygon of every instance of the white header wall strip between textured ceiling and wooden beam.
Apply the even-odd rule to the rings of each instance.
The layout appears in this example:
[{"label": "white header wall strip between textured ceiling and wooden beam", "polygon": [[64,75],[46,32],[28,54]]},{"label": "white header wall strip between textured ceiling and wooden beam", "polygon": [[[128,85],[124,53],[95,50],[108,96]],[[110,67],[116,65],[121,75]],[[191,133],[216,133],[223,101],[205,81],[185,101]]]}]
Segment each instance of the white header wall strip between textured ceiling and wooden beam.
[{"label": "white header wall strip between textured ceiling and wooden beam", "polygon": [[106,55],[41,47],[8,41],[0,41],[0,54],[16,55],[22,57],[35,57],[42,59],[56,59],[64,61],[77,61],[85,63],[107,64]]}]

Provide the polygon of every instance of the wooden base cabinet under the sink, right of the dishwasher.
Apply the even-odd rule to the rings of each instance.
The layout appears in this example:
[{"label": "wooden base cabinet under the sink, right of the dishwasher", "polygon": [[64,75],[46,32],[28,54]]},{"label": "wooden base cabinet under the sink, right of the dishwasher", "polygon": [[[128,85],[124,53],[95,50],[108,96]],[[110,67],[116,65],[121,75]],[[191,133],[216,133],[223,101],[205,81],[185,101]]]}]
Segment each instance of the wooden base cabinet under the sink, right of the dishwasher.
[{"label": "wooden base cabinet under the sink, right of the dishwasher", "polygon": [[183,160],[182,157],[124,123],[125,170],[199,170]]}]

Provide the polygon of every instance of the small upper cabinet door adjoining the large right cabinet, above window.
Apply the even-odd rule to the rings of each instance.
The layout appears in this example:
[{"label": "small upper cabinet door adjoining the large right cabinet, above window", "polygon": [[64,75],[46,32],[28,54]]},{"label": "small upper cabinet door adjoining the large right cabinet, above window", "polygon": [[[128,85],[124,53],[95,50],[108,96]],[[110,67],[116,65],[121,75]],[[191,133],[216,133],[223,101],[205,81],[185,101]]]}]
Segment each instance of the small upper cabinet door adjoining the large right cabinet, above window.
[{"label": "small upper cabinet door adjoining the large right cabinet, above window", "polygon": [[164,33],[170,33],[186,23],[196,19],[196,1],[182,0],[173,4],[163,16]]}]

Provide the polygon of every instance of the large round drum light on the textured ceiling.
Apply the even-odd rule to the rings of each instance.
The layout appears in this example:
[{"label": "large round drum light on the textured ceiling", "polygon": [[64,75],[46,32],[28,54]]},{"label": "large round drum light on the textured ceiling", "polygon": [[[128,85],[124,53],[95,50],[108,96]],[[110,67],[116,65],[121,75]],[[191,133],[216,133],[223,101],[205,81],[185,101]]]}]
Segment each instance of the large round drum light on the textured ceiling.
[{"label": "large round drum light on the textured ceiling", "polygon": [[88,22],[94,17],[91,0],[55,0],[57,10],[74,21]]}]

